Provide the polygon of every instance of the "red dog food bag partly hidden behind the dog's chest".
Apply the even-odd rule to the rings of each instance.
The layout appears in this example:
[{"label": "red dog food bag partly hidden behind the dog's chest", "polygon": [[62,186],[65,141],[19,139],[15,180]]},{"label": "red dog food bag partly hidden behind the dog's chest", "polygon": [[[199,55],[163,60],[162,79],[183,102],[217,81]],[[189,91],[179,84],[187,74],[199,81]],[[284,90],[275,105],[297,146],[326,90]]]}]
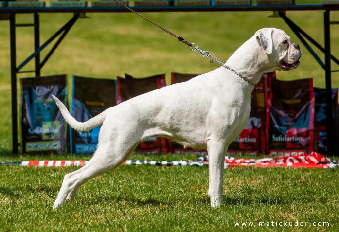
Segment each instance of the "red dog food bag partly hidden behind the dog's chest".
[{"label": "red dog food bag partly hidden behind the dog's chest", "polygon": [[270,78],[276,78],[276,73],[265,73],[260,82],[255,85],[251,95],[250,118],[243,131],[229,145],[230,155],[265,153],[266,102],[269,90],[267,83]]}]

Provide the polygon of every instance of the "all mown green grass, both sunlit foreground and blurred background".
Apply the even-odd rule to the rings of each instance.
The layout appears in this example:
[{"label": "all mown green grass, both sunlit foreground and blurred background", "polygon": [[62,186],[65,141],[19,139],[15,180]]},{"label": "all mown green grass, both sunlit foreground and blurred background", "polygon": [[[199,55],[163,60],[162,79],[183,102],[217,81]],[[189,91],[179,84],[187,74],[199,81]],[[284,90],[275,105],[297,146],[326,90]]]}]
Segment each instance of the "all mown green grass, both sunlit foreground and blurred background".
[{"label": "all mown green grass, both sunlit foreground and blurred background", "polygon": [[[312,3],[312,0],[300,0]],[[319,1],[317,1],[319,2]],[[262,27],[284,29],[271,12],[144,13],[224,60]],[[79,19],[42,70],[43,75],[72,74],[115,78],[125,72],[148,76],[171,71],[203,73],[217,67],[192,53],[143,19],[128,13],[88,14]],[[323,44],[322,12],[288,12]],[[71,14],[41,14],[45,41]],[[339,20],[336,12],[333,20]],[[19,15],[18,23],[33,21]],[[0,21],[0,161],[86,159],[11,154],[9,23]],[[332,50],[339,56],[339,33],[332,27]],[[18,63],[33,50],[33,30],[17,30]],[[301,66],[279,71],[279,79],[314,78],[324,87],[324,72],[301,45]],[[46,54],[44,52],[43,54]],[[321,58],[323,56],[321,55]],[[33,62],[26,70],[33,69]],[[334,69],[336,67],[334,66]],[[29,75],[21,75],[25,77]],[[333,74],[339,87],[339,75]],[[19,98],[18,98],[19,99]],[[142,156],[131,159],[186,160],[194,156]],[[68,168],[0,166],[0,231],[339,231],[339,171],[315,169],[234,168],[225,170],[223,205],[209,207],[208,170],[195,167],[121,166],[90,180],[74,202],[56,211],[52,204]],[[328,222],[329,226],[258,226],[258,222]],[[254,222],[257,226],[235,226]]]}]

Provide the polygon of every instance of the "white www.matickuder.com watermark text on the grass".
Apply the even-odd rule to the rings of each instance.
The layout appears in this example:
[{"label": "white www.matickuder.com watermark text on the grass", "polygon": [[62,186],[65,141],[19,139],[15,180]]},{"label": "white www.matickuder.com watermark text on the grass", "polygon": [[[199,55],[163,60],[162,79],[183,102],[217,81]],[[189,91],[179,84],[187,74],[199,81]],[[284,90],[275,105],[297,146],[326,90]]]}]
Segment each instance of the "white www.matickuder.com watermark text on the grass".
[{"label": "white www.matickuder.com watermark text on the grass", "polygon": [[234,222],[235,226],[243,227],[303,227],[303,226],[330,226],[329,222],[304,222],[304,221],[270,221],[270,222]]}]

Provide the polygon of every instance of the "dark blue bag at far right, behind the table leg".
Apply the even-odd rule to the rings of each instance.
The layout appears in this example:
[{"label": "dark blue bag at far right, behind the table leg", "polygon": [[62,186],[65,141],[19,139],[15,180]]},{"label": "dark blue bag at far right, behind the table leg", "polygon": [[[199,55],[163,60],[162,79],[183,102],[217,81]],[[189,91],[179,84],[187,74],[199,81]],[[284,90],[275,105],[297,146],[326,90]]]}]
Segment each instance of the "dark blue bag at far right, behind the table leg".
[{"label": "dark blue bag at far right, behind the table leg", "polygon": [[[326,89],[314,88],[315,110],[317,115],[317,125],[319,130],[319,152],[327,152],[327,132],[326,132]],[[332,89],[332,110],[333,118],[337,109],[338,89]]]}]

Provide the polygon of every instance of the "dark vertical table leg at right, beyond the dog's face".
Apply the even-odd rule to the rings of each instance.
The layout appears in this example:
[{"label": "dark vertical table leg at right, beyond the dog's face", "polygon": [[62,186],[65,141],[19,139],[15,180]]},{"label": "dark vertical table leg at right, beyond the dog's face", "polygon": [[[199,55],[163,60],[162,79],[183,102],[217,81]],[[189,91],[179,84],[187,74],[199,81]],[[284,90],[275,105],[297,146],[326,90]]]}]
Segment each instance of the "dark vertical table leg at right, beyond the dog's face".
[{"label": "dark vertical table leg at right, beyond the dog's face", "polygon": [[331,34],[330,34],[330,11],[324,12],[324,37],[325,37],[325,80],[326,80],[326,115],[327,115],[327,147],[328,154],[334,152],[334,123],[332,110],[332,85],[331,85]]}]

